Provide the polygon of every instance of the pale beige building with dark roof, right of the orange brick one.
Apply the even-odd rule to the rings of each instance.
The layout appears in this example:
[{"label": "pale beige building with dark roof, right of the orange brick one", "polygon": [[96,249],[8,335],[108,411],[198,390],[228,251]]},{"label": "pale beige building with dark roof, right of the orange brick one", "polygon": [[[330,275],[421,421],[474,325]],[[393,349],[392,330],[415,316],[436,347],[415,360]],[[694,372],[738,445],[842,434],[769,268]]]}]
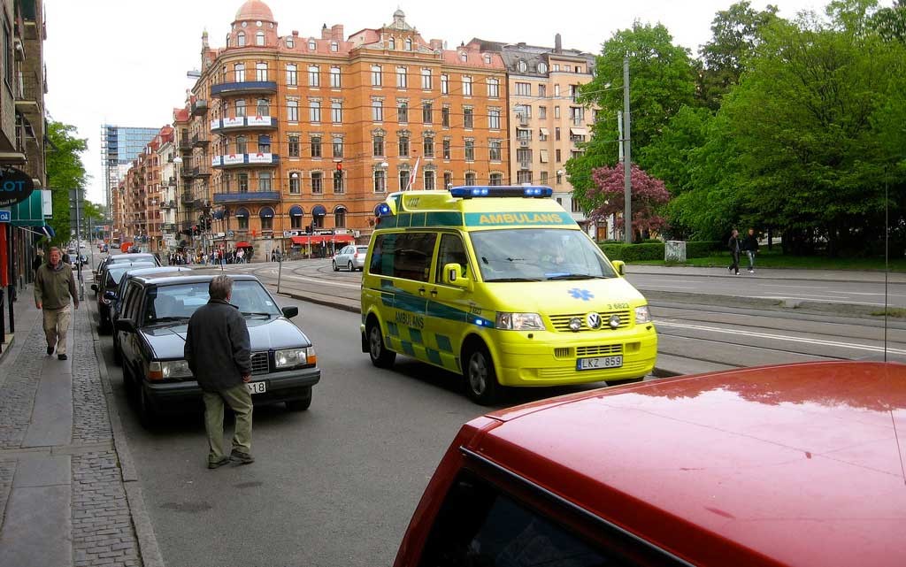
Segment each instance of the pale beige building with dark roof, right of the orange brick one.
[{"label": "pale beige building with dark roof, right of the orange brick one", "polygon": [[[578,92],[593,79],[594,55],[564,49],[560,34],[554,37],[554,47],[480,39],[469,45],[500,53],[506,63],[513,181],[553,187],[556,201],[597,237],[599,227],[586,221],[573,200],[564,169],[566,160],[581,151],[578,144],[593,131],[594,111],[579,103]],[[606,226],[600,228],[606,232]]]}]

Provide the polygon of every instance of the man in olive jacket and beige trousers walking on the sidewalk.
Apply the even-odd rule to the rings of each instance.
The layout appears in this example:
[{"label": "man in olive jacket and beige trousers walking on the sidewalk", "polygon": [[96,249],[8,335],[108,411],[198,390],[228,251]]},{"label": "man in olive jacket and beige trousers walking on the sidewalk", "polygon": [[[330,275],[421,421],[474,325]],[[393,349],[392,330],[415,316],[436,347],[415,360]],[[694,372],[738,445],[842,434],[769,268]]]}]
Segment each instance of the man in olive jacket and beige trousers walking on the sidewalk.
[{"label": "man in olive jacket and beige trousers walking on the sidewalk", "polygon": [[72,266],[62,261],[60,249],[51,248],[50,261],[38,268],[34,275],[34,306],[43,312],[44,336],[47,354],[57,351],[57,358],[66,360],[66,332],[72,316],[69,303],[79,308],[79,294],[75,291]]}]

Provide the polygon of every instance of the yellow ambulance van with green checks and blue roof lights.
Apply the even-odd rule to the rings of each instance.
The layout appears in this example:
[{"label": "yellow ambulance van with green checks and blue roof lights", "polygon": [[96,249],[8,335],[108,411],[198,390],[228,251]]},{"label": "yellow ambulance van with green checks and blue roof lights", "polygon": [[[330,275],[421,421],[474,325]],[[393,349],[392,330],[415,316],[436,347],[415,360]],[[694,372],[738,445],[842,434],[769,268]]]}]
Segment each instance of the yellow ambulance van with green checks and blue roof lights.
[{"label": "yellow ambulance van with green checks and blue roof lights", "polygon": [[361,348],[500,386],[638,380],[658,337],[648,302],[550,187],[453,187],[387,197],[361,283]]}]

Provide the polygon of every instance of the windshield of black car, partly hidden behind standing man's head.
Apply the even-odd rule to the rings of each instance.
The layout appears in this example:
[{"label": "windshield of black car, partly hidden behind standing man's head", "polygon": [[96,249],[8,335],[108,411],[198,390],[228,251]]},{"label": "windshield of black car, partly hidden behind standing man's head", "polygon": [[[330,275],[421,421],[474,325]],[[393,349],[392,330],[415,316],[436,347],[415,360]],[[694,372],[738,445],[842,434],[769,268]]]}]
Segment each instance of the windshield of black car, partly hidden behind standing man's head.
[{"label": "windshield of black car, partly hidden behind standing man's head", "polygon": [[[188,321],[198,307],[207,303],[207,285],[207,282],[174,283],[150,289],[142,322],[149,325],[156,322]],[[255,281],[233,282],[230,303],[236,305],[246,316],[282,314],[261,283]]]}]

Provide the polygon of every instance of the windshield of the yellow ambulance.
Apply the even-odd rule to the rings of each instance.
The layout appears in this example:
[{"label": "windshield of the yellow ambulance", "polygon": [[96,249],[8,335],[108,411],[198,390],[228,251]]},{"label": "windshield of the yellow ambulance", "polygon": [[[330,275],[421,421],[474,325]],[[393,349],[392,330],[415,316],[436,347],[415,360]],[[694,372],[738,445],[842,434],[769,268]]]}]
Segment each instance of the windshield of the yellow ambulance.
[{"label": "windshield of the yellow ambulance", "polygon": [[486,282],[615,277],[611,264],[578,230],[514,228],[470,233]]}]

